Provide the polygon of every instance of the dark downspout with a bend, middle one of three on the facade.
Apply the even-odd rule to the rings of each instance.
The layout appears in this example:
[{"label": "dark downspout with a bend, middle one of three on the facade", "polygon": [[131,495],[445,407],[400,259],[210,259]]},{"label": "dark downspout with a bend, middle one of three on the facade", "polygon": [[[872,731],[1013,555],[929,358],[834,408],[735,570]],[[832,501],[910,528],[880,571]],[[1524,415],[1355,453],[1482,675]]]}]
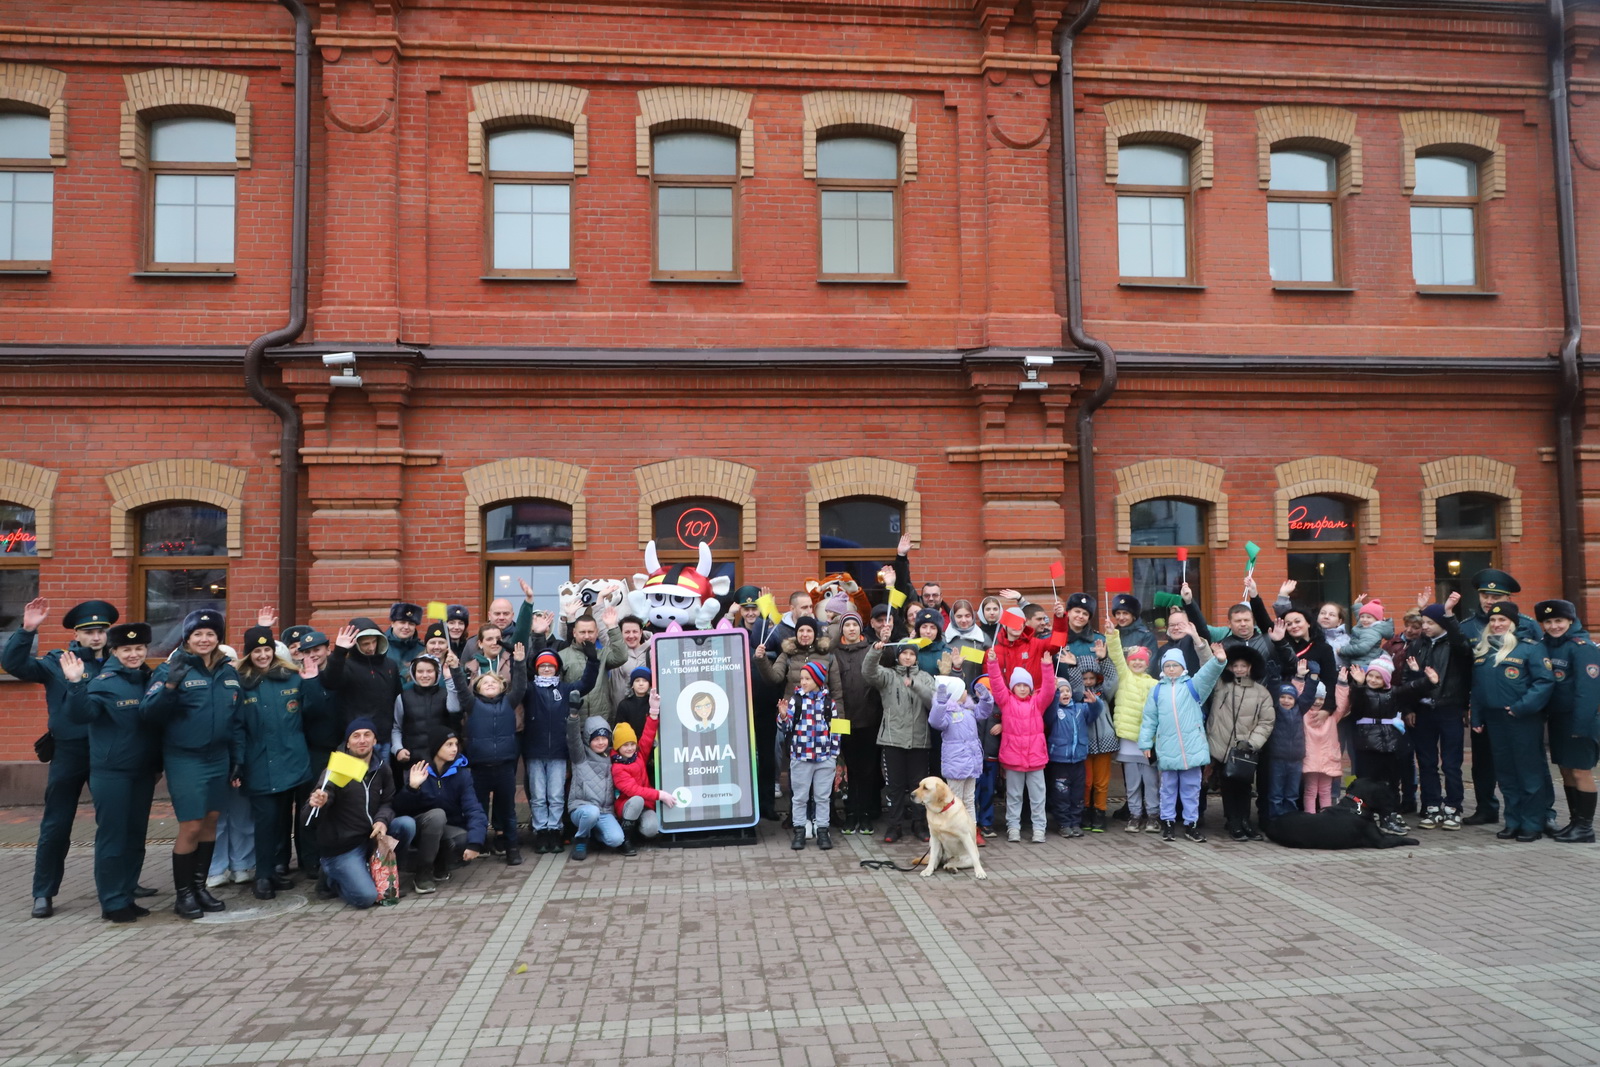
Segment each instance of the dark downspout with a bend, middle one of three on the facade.
[{"label": "dark downspout with a bend, middle one of three on the facade", "polygon": [[[1094,501],[1094,413],[1117,390],[1117,352],[1083,331],[1083,258],[1078,253],[1078,128],[1072,88],[1072,45],[1078,32],[1099,14],[1099,0],[1085,0],[1077,18],[1056,38],[1061,56],[1061,194],[1062,234],[1067,242],[1067,338],[1078,349],[1094,352],[1101,382],[1078,405],[1078,528],[1083,553],[1083,590],[1099,585],[1099,523]],[[1066,510],[1066,509],[1064,509]],[[1066,541],[1066,536],[1062,537]]]}]

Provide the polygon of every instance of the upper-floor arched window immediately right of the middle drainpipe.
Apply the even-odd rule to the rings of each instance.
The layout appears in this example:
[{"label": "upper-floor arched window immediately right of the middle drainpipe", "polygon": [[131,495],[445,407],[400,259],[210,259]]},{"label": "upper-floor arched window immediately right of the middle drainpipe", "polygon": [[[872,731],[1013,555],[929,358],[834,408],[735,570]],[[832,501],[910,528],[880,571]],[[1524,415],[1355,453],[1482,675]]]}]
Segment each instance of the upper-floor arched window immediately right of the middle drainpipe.
[{"label": "upper-floor arched window immediately right of the middle drainpipe", "polygon": [[1117,154],[1117,269],[1125,282],[1189,277],[1189,152],[1125,144]]}]

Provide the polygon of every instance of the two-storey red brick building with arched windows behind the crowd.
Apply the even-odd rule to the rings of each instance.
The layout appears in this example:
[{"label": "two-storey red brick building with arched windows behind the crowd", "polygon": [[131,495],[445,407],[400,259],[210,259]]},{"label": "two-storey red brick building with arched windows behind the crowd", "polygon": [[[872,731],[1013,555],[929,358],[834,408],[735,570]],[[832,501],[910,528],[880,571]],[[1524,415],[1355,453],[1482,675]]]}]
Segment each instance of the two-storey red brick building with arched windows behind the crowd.
[{"label": "two-storey red brick building with arched windows behind the crowd", "polygon": [[[779,590],[902,530],[946,597],[1077,574],[1102,381],[1066,334],[1077,3],[310,6],[309,322],[264,376],[302,419],[286,616],[477,617],[518,574],[629,576],[658,530],[715,528]],[[1570,6],[1584,235],[1600,10]],[[283,547],[242,354],[286,322],[291,18],[3,22],[0,630],[37,589],[46,646],[88,597],[168,630],[221,601],[237,633]],[[1184,545],[1214,613],[1254,541],[1272,587],[1406,603],[1493,560],[1560,595],[1549,34],[1515,0],[1109,0],[1083,26],[1083,317],[1120,366],[1101,579],[1149,597]],[[1600,245],[1578,267],[1600,306]],[[0,680],[0,760],[40,712]]]}]

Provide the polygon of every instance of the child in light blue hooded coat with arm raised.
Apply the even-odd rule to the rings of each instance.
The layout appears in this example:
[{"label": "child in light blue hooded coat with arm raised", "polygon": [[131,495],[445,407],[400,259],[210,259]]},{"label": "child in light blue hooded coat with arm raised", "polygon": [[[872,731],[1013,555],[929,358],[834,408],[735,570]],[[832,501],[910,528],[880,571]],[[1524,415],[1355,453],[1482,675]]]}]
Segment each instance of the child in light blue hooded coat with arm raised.
[{"label": "child in light blue hooded coat with arm raised", "polygon": [[1190,678],[1184,654],[1176,648],[1162,653],[1162,680],[1144,701],[1139,750],[1162,771],[1162,840],[1176,838],[1178,797],[1184,801],[1184,837],[1203,841],[1200,832],[1200,776],[1211,761],[1205,734],[1203,704],[1222,677],[1227,649],[1211,645],[1211,657]]}]

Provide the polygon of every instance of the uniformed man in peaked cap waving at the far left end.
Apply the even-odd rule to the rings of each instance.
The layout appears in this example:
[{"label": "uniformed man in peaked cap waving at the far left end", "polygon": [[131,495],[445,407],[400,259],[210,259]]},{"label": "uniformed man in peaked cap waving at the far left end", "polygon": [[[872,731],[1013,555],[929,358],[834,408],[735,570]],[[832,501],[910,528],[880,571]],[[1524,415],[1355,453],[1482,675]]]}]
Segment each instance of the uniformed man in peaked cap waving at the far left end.
[{"label": "uniformed man in peaked cap waving at the far left end", "polygon": [[[72,845],[72,819],[78,813],[78,798],[90,781],[90,734],[67,718],[67,680],[61,673],[61,653],[72,651],[83,661],[90,677],[101,672],[106,651],[106,627],[117,621],[117,609],[104,600],[85,600],[61,621],[77,637],[66,649],[34,656],[34,633],[38,624],[50,617],[50,601],[43,597],[30,600],[22,608],[22,625],[5,651],[0,651],[0,667],[22,681],[45,686],[45,704],[50,709],[50,728],[40,741],[53,745],[50,776],[45,781],[45,817],[38,822],[38,848],[34,853],[34,918],[50,918],[56,913],[51,901],[61,891],[61,872]],[[155,893],[155,889],[150,889]],[[141,896],[147,896],[141,893]]]}]

